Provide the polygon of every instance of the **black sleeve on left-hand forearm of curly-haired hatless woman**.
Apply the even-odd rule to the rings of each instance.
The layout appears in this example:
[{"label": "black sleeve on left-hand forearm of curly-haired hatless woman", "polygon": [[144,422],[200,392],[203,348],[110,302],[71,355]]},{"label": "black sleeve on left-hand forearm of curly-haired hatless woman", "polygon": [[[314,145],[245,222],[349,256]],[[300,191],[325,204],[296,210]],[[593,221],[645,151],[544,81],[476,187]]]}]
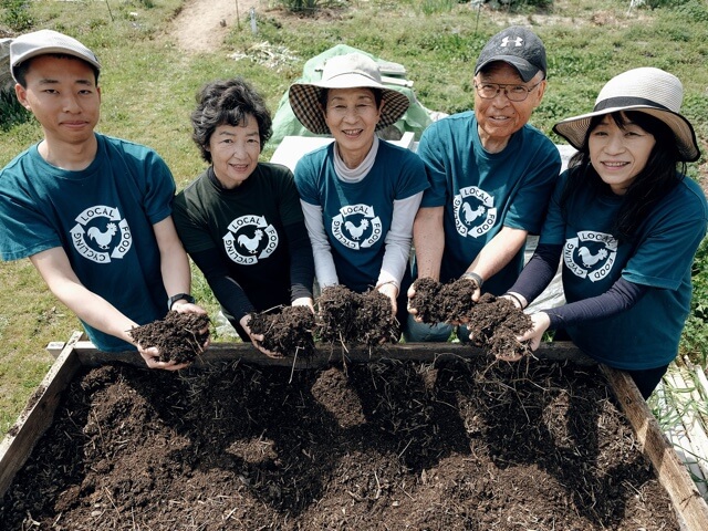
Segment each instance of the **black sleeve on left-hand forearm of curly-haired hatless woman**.
[{"label": "black sleeve on left-hand forearm of curly-haired hatless woman", "polygon": [[229,277],[229,271],[217,249],[195,252],[190,257],[204,273],[219,303],[237,321],[256,310],[251,301],[246,296],[243,289],[236,280]]}]

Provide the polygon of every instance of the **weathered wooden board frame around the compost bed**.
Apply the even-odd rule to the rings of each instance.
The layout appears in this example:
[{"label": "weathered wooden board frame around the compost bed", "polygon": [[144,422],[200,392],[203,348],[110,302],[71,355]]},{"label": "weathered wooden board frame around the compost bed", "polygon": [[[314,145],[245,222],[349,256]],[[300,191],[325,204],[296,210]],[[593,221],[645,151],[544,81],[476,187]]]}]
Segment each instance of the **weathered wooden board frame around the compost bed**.
[{"label": "weathered wooden board frame around the compost bed", "polygon": [[[81,341],[81,333],[72,335],[66,343],[48,346],[56,361],[46,374],[15,425],[0,444],[0,497],[8,490],[15,473],[22,468],[42,434],[51,426],[62,392],[82,366],[97,366],[119,358],[132,365],[144,365],[136,353],[106,354],[97,351],[92,343]],[[369,351],[355,347],[319,347],[308,360],[268,358],[250,344],[212,344],[197,364],[236,361],[267,366],[292,366],[294,369],[319,368],[332,363],[362,363],[382,358],[434,362],[444,357],[470,358],[481,355],[481,350],[454,343],[412,343]],[[535,352],[542,360],[568,361],[577,365],[594,365],[572,343],[549,343]],[[623,372],[602,366],[610,385],[632,425],[644,455],[652,462],[660,485],[666,489],[683,529],[705,531],[708,529],[708,504],[690,479],[684,464],[678,459],[670,442],[662,433],[656,419],[642,398],[634,382]]]}]

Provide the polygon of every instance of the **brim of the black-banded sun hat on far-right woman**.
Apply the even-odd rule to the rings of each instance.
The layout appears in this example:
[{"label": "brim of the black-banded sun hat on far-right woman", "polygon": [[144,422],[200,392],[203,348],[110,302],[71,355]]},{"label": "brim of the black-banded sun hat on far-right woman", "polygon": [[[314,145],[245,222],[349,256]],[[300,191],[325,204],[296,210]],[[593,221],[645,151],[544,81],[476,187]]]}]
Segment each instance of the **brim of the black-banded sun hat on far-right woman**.
[{"label": "brim of the black-banded sun hat on far-right woman", "polygon": [[593,117],[627,111],[649,114],[664,122],[674,133],[681,160],[687,163],[698,160],[700,150],[698,149],[698,142],[696,140],[696,132],[690,123],[678,113],[649,105],[607,107],[602,111],[581,114],[580,116],[562,119],[553,126],[553,132],[565,138],[575,149],[582,149],[590,122]]}]

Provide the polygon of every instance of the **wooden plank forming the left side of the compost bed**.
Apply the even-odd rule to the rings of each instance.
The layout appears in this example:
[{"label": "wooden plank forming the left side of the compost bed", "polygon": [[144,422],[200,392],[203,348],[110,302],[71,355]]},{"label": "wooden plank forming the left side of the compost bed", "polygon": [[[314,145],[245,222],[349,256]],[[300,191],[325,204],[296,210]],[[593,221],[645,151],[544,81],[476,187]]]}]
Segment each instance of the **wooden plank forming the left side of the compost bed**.
[{"label": "wooden plank forming the left side of the compost bed", "polygon": [[30,397],[28,407],[0,442],[0,498],[12,485],[14,475],[24,466],[34,445],[54,420],[54,412],[62,393],[81,367],[74,344],[81,333],[74,333],[64,345],[56,362]]}]

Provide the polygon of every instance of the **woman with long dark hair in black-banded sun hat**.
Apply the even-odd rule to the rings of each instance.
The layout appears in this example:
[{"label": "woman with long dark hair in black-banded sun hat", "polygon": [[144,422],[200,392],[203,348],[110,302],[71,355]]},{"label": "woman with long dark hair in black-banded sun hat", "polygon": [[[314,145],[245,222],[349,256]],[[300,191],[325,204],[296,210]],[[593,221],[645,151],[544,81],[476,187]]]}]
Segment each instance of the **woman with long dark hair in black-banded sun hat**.
[{"label": "woman with long dark hair in black-banded sun hat", "polygon": [[686,163],[700,156],[679,114],[680,81],[641,67],[613,77],[592,113],[553,131],[579,152],[561,176],[539,247],[507,296],[524,308],[563,258],[568,303],[532,315],[522,340],[558,330],[586,354],[625,369],[647,398],[690,308],[690,269],[708,207]]}]

